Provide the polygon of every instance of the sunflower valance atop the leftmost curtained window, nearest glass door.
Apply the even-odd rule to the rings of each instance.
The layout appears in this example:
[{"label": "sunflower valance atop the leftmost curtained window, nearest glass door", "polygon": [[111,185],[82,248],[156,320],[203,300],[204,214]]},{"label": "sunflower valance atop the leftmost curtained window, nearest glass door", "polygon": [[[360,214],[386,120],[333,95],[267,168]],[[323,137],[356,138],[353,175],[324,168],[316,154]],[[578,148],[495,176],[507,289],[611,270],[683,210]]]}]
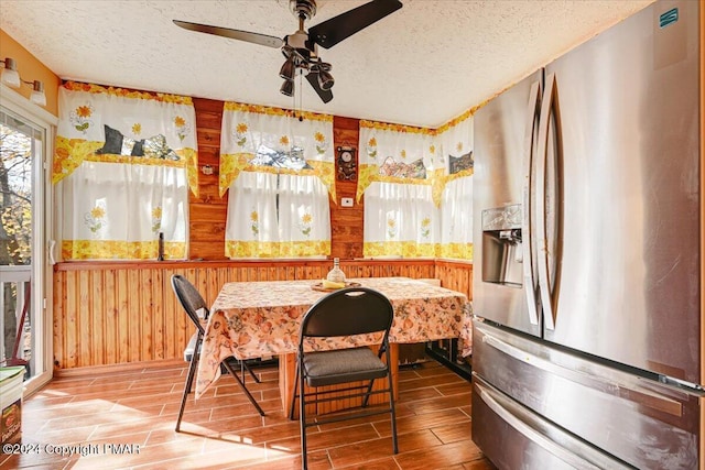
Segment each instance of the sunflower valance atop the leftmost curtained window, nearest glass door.
[{"label": "sunflower valance atop the leftmost curtained window, nearest glass door", "polygon": [[170,166],[198,192],[196,113],[188,97],[67,81],[59,87],[52,182],[82,163]]}]

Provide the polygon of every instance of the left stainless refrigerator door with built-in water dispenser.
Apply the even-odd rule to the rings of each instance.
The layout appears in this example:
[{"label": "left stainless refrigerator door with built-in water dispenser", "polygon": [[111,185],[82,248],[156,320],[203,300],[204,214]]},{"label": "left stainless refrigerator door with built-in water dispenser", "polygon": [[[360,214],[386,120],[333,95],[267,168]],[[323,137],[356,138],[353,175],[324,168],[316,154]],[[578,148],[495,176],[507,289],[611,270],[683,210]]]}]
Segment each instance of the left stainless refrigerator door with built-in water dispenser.
[{"label": "left stainless refrigerator door with built-in water dispenser", "polygon": [[541,105],[539,70],[480,108],[474,119],[474,310],[541,335],[533,293],[528,206]]}]

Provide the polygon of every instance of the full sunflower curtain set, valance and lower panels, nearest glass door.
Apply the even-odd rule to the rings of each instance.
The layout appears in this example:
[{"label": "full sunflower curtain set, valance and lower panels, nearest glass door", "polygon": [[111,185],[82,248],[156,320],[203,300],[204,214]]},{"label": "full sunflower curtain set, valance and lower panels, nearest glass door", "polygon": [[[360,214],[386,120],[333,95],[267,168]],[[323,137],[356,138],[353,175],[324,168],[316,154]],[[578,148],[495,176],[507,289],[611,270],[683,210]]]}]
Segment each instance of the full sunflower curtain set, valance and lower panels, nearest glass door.
[{"label": "full sunflower curtain set, valance and lower panels, nearest glass door", "polygon": [[191,98],[65,83],[52,170],[64,260],[187,258]]}]

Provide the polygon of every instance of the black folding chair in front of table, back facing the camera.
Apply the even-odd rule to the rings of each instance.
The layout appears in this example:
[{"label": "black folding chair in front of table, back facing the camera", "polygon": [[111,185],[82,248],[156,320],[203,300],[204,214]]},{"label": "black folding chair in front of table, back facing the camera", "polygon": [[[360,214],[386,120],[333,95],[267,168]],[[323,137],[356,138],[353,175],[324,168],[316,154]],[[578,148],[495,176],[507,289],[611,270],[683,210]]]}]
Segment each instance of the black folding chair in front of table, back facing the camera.
[{"label": "black folding chair in front of table, back facing the camera", "polygon": [[[392,428],[392,448],[397,444],[397,414],[390,367],[389,330],[394,318],[391,302],[380,292],[367,287],[348,287],[335,291],[318,299],[306,311],[300,330],[296,353],[296,378],[291,403],[290,418],[294,418],[295,401],[299,400],[301,425],[302,468],[307,468],[306,429],[327,423],[389,413]],[[368,346],[347,349],[310,351],[310,339],[355,337],[378,332],[379,351]],[[382,360],[382,357],[384,358]],[[386,379],[387,386],[372,390],[378,379]],[[308,390],[306,390],[306,385]],[[319,390],[328,385],[341,385],[335,390]],[[369,398],[376,394],[388,394],[388,406],[368,407]],[[308,420],[308,405],[354,398],[359,406],[335,411]],[[357,402],[355,402],[357,401]]]}]

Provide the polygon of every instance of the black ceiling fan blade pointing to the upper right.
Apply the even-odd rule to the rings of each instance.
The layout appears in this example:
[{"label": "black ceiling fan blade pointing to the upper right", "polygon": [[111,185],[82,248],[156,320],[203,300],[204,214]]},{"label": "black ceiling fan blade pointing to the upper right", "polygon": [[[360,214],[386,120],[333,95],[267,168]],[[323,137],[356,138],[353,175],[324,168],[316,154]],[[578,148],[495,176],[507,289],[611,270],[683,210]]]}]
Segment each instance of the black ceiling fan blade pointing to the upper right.
[{"label": "black ceiling fan blade pointing to the upper right", "polygon": [[330,48],[402,7],[399,0],[372,0],[308,29],[308,39]]}]

